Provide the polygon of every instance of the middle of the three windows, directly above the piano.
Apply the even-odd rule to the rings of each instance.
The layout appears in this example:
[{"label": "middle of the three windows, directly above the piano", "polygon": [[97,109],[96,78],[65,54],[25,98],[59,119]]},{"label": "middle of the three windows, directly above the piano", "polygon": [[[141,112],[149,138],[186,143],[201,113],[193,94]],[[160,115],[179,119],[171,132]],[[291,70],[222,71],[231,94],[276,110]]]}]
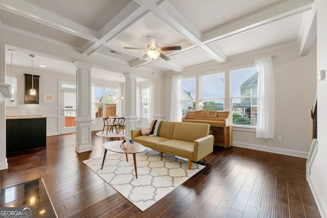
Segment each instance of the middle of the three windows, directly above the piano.
[{"label": "middle of the three windows, directly above the piano", "polygon": [[200,77],[200,102],[203,110],[224,110],[225,84],[224,72]]}]

